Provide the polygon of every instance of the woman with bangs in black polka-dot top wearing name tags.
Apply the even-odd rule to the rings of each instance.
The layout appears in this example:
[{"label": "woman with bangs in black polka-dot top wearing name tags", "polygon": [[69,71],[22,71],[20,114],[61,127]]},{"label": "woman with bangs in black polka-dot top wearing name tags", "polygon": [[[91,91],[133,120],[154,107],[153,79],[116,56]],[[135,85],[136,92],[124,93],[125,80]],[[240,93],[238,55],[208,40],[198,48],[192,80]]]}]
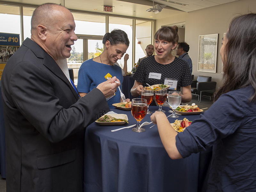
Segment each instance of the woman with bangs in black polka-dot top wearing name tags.
[{"label": "woman with bangs in black polka-dot top wearing name tags", "polygon": [[[177,91],[182,89],[181,101],[191,101],[192,77],[188,63],[172,55],[179,41],[178,27],[162,27],[154,35],[156,55],[140,62],[133,78],[135,79],[131,93],[134,97],[141,95],[141,89],[146,85],[166,84],[165,78],[172,79]],[[151,104],[152,105],[152,104]]]}]

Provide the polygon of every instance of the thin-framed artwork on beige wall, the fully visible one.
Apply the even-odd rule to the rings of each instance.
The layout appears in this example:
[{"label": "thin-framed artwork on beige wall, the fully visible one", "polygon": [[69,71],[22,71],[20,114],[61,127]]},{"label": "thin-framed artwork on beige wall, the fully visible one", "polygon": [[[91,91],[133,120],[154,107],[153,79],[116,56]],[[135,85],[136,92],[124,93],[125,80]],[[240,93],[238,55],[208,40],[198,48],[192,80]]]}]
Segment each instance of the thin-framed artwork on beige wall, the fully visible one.
[{"label": "thin-framed artwork on beige wall, the fully visible one", "polygon": [[197,71],[216,73],[218,34],[200,35]]}]

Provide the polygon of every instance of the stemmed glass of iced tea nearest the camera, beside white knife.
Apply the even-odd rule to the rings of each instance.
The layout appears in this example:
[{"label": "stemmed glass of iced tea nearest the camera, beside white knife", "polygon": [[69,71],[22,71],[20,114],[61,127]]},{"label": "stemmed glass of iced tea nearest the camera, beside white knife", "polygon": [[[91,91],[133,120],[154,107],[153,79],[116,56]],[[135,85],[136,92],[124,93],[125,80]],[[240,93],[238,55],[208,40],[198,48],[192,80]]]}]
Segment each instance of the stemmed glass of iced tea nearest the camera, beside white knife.
[{"label": "stemmed glass of iced tea nearest the camera, beside white knife", "polygon": [[132,99],[132,116],[137,120],[137,127],[133,128],[134,132],[144,132],[143,128],[140,128],[140,121],[147,114],[147,100],[146,99]]}]

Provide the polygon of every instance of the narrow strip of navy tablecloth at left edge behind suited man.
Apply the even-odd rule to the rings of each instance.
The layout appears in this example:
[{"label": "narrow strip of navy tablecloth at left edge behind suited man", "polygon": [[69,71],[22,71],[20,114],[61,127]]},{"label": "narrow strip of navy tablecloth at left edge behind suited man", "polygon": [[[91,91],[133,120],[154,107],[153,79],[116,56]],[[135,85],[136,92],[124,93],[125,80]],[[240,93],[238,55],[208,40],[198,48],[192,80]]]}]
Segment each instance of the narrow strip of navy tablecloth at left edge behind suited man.
[{"label": "narrow strip of navy tablecloth at left edge behind suited man", "polygon": [[1,177],[3,177],[3,178],[6,177],[6,173],[5,173],[5,126],[4,126],[4,112],[3,112],[1,85],[0,85],[0,173],[1,173]]}]

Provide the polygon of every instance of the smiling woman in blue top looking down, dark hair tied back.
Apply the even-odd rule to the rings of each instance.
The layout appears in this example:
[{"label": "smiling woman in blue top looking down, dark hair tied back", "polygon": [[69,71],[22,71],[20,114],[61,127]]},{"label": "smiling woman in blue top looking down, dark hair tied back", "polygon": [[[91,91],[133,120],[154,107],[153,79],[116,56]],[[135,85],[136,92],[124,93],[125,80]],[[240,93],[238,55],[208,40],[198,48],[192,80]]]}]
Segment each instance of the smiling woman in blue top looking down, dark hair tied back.
[{"label": "smiling woman in blue top looking down, dark hair tied back", "polygon": [[[130,44],[128,36],[124,31],[114,29],[111,33],[105,34],[102,43],[105,45],[104,51],[98,57],[84,61],[79,68],[77,90],[81,97],[106,81],[105,76],[108,73],[120,80],[120,88],[122,90],[122,68],[114,63],[124,56]],[[130,99],[126,99],[126,101],[130,102]],[[119,89],[117,89],[116,95],[108,100],[108,106],[109,108],[114,108],[112,104],[119,102],[123,102],[123,100]]]}]

